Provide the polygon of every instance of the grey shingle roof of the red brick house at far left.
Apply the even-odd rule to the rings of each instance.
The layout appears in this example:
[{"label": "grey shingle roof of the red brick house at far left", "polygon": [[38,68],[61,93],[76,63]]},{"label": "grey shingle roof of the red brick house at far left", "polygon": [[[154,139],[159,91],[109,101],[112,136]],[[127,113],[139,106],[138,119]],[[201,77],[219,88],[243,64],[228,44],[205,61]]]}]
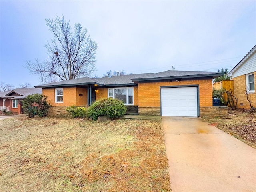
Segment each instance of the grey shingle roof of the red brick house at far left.
[{"label": "grey shingle roof of the red brick house at far left", "polygon": [[[9,94],[11,94],[12,92],[18,94],[19,96],[9,96]],[[36,94],[36,93],[42,94],[42,89],[41,88],[17,88],[17,89],[1,92],[0,97],[12,98],[12,99],[24,99],[26,96]]]}]

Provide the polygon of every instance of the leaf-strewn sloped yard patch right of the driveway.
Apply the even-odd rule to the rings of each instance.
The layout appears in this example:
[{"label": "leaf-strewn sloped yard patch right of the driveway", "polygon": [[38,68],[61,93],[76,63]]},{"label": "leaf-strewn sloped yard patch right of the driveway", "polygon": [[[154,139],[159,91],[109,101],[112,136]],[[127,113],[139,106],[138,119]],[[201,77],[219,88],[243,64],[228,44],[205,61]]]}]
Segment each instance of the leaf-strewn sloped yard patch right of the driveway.
[{"label": "leaf-strewn sloped yard patch right of the driveway", "polygon": [[249,110],[245,109],[229,110],[226,118],[205,118],[205,120],[256,148],[256,114],[249,114],[248,112]]}]

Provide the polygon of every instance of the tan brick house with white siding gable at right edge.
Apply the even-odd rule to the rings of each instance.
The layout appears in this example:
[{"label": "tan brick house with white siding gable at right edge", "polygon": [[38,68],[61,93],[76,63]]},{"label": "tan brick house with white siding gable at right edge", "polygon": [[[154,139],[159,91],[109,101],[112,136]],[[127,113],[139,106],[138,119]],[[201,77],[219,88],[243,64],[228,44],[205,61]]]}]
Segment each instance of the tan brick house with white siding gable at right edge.
[{"label": "tan brick house with white siding gable at right edge", "polygon": [[246,99],[246,86],[252,106],[256,107],[255,77],[256,77],[256,46],[229,72],[234,84],[234,94],[238,98],[238,108],[250,108]]}]

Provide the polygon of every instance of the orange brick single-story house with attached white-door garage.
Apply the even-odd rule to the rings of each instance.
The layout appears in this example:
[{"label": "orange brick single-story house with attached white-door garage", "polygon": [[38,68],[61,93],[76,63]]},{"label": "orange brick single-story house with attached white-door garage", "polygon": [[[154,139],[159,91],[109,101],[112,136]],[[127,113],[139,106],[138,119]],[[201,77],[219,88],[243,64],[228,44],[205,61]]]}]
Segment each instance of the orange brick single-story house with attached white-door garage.
[{"label": "orange brick single-story house with attached white-door garage", "polygon": [[222,75],[224,72],[164,71],[84,77],[35,87],[48,96],[50,115],[65,114],[68,106],[88,106],[111,97],[141,115],[198,117],[213,108],[212,79]]}]

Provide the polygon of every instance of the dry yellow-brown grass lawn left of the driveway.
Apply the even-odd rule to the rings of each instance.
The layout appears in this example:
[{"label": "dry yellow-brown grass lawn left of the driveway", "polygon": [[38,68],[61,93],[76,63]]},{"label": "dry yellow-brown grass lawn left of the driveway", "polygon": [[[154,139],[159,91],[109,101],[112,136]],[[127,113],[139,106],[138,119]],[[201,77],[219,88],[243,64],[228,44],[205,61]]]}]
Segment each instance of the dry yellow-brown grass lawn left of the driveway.
[{"label": "dry yellow-brown grass lawn left of the driveway", "polygon": [[0,191],[170,191],[162,124],[0,120]]}]

